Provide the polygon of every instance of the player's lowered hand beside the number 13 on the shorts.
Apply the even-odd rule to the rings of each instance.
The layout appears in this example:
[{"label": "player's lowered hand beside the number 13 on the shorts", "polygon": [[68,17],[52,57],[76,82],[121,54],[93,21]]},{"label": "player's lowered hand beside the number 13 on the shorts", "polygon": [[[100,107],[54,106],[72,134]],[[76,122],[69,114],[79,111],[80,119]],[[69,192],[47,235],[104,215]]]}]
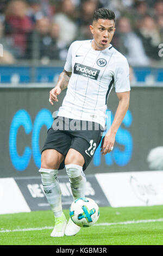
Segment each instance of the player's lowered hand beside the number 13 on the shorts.
[{"label": "player's lowered hand beside the number 13 on the shorts", "polygon": [[105,135],[102,139],[101,143],[101,153],[102,155],[106,155],[107,153],[110,153],[112,149],[114,148],[115,143],[115,135]]}]

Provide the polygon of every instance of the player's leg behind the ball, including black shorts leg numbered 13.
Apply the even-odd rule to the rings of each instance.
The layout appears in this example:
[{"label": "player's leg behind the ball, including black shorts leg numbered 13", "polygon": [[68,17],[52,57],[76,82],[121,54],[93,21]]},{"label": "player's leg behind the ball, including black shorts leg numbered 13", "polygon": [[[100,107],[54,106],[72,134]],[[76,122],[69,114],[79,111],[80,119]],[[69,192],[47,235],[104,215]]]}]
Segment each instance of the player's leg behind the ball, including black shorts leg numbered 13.
[{"label": "player's leg behind the ball, including black shorts leg numbered 13", "polygon": [[[77,131],[65,159],[65,167],[70,179],[73,198],[85,197],[86,179],[83,170],[91,162],[101,142],[101,130]],[[75,235],[80,230],[71,218],[68,221],[65,235]]]}]

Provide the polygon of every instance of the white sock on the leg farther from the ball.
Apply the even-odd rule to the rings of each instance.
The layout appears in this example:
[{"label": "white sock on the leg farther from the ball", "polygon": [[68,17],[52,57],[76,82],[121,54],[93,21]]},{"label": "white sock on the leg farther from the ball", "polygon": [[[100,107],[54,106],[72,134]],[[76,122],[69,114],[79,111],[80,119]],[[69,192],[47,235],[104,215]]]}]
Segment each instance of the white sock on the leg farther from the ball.
[{"label": "white sock on the leg farther from the ball", "polygon": [[62,215],[61,189],[57,179],[58,170],[41,168],[39,172],[41,172],[43,190],[47,201],[51,205],[54,217],[58,218]]}]

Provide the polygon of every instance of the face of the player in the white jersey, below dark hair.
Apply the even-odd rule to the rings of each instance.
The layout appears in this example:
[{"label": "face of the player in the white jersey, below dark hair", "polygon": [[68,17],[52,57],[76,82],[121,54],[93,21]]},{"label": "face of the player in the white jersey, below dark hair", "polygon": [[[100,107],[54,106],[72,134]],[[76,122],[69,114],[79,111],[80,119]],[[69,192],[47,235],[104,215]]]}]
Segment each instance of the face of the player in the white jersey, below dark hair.
[{"label": "face of the player in the white jersey, below dark hair", "polygon": [[108,48],[115,32],[114,20],[99,19],[93,21],[93,25],[90,26],[90,29],[93,34],[93,49],[101,51]]}]

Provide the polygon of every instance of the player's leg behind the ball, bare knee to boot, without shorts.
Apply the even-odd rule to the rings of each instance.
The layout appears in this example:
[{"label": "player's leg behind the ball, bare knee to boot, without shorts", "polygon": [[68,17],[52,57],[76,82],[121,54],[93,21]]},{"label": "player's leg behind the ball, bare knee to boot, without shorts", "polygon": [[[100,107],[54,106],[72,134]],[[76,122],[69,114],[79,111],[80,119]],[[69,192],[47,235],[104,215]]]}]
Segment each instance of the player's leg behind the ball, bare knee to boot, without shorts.
[{"label": "player's leg behind the ball, bare knee to boot, without shorts", "polygon": [[[68,150],[65,159],[66,172],[68,174],[73,199],[85,196],[86,178],[83,173],[84,157],[75,149]],[[71,218],[68,220],[65,235],[76,235],[80,227],[73,223]]]}]

